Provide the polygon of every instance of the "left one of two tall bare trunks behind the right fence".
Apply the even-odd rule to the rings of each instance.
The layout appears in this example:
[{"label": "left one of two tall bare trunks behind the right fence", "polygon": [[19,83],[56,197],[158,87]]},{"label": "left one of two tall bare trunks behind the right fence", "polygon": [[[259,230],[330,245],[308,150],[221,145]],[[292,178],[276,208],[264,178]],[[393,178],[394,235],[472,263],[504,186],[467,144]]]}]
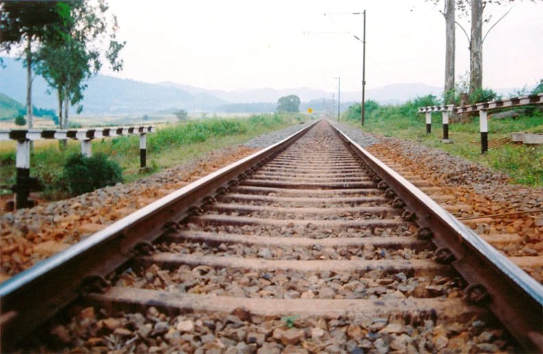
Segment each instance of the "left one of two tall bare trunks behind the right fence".
[{"label": "left one of two tall bare trunks behind the right fence", "polygon": [[445,1],[445,104],[455,103],[455,0]]}]

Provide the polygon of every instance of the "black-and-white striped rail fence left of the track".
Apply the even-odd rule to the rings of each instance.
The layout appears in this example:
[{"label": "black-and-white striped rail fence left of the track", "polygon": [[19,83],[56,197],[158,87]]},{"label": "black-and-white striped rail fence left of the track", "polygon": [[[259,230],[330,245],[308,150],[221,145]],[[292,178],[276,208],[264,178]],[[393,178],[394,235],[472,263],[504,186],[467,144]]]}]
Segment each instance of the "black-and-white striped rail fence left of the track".
[{"label": "black-and-white striped rail fence left of the track", "polygon": [[154,126],[125,126],[112,128],[88,129],[9,129],[0,130],[0,141],[16,141],[16,185],[12,190],[16,193],[16,208],[28,206],[30,190],[35,189],[38,181],[30,177],[30,142],[44,139],[81,141],[81,152],[84,156],[93,156],[93,139],[119,137],[138,134],[140,136],[140,166],[147,165],[147,134],[156,132]]}]

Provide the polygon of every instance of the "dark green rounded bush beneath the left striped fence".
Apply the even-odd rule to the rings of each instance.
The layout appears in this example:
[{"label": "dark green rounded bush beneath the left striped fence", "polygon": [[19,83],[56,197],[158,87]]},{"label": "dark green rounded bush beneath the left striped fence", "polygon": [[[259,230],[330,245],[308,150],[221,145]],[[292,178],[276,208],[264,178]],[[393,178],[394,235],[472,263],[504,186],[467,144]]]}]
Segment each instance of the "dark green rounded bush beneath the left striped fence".
[{"label": "dark green rounded bush beneath the left striped fence", "polygon": [[105,154],[71,154],[64,162],[62,180],[70,193],[80,195],[123,181],[121,167]]}]

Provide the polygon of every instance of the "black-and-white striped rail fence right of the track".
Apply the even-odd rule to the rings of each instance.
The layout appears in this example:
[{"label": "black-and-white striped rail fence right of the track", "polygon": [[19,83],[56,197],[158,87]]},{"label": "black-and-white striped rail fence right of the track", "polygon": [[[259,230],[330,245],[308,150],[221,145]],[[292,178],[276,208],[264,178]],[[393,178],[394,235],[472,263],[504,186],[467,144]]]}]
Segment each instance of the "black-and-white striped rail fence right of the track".
[{"label": "black-and-white striped rail fence right of the track", "polygon": [[467,106],[455,107],[453,104],[447,106],[426,106],[420,107],[418,113],[426,114],[426,133],[431,133],[432,112],[441,112],[443,117],[443,139],[448,140],[448,115],[449,113],[470,113],[479,112],[479,126],[481,130],[481,154],[488,150],[488,110],[496,108],[509,108],[529,106],[531,104],[543,104],[543,93],[535,95],[511,97],[498,99],[496,101],[480,102]]}]

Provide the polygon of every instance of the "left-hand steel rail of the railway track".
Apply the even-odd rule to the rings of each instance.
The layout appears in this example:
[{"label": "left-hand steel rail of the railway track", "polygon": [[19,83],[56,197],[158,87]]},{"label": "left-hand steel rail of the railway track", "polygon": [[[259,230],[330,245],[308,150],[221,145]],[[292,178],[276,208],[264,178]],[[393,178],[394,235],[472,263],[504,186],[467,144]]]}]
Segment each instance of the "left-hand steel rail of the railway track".
[{"label": "left-hand steel rail of the railway track", "polygon": [[167,222],[182,220],[189,215],[189,207],[196,202],[204,202],[204,196],[221,193],[217,189],[228,187],[229,181],[265,163],[302,137],[317,122],[156,200],[1,283],[1,349],[14,349],[25,335],[79,296],[95,291],[97,287],[108,287],[104,276],[134,257],[138,245],[145,246],[146,242],[152,242],[162,235]]}]

